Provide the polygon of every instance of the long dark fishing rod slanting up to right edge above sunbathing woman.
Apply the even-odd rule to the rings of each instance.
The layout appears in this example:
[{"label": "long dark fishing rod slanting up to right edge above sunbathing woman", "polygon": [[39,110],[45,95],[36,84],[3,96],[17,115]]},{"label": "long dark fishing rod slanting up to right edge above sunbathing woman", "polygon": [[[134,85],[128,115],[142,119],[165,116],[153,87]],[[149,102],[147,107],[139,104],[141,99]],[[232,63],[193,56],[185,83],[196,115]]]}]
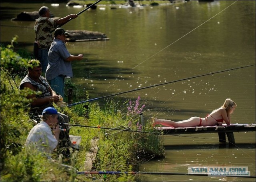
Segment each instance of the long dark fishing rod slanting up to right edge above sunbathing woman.
[{"label": "long dark fishing rod slanting up to right edge above sunbathing woman", "polygon": [[154,87],[154,86],[160,86],[160,85],[164,85],[164,84],[179,82],[179,81],[188,80],[188,79],[192,79],[192,78],[198,78],[198,77],[201,77],[201,76],[207,76],[207,75],[211,75],[211,74],[226,72],[226,71],[230,71],[230,70],[236,70],[236,69],[240,69],[240,68],[252,67],[252,66],[255,66],[255,64],[254,65],[247,65],[247,66],[244,66],[244,67],[238,67],[238,68],[230,68],[228,70],[216,71],[216,72],[207,73],[207,74],[201,74],[201,75],[198,75],[198,76],[191,76],[191,77],[188,77],[188,78],[183,78],[183,79],[180,79],[180,80],[174,80],[174,81],[171,81],[171,82],[165,82],[165,83],[161,83],[161,84],[154,84],[152,86],[146,86],[146,87],[143,87],[143,88],[136,88],[134,90],[128,90],[128,91],[125,91],[125,92],[119,92],[119,93],[116,93],[116,94],[110,94],[108,96],[102,96],[102,97],[98,97],[98,98],[94,98],[94,99],[89,99],[89,100],[77,102],[77,103],[74,103],[74,104],[69,104],[67,107],[75,106],[77,104],[82,104],[82,103],[85,103],[85,102],[91,102],[91,101],[94,101],[94,100],[99,100],[99,99],[102,99],[102,98],[108,98],[108,97],[111,97],[111,96],[117,96],[117,95],[125,94],[125,93],[128,93],[128,92],[134,92],[134,91],[138,91],[138,90],[142,90],[142,89],[146,89],[146,88],[151,88],[151,87]]}]

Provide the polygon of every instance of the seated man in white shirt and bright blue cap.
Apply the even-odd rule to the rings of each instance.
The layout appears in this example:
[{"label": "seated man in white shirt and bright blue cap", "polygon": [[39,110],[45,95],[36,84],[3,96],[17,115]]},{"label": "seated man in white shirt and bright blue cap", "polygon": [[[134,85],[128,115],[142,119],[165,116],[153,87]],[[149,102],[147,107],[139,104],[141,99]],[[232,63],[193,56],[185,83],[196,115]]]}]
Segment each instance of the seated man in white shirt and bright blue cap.
[{"label": "seated man in white shirt and bright blue cap", "polygon": [[50,158],[51,153],[58,145],[59,135],[58,112],[56,109],[48,107],[42,112],[42,121],[30,130],[26,146],[35,147]]}]

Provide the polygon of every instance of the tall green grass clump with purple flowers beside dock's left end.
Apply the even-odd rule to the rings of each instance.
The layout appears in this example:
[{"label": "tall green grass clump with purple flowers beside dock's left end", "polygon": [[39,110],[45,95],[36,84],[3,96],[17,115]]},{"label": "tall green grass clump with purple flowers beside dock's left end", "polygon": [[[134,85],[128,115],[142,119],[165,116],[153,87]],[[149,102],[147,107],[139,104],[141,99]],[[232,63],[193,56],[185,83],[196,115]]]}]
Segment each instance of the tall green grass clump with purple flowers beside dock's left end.
[{"label": "tall green grass clump with purple flowers beside dock's left end", "polygon": [[[98,120],[98,123],[94,123],[94,125],[98,124],[100,127],[108,128],[124,126],[130,127],[132,130],[104,130],[105,135],[99,132],[99,137],[102,140],[100,141],[100,149],[95,162],[97,171],[112,171],[116,169],[118,171],[136,170],[136,166],[139,163],[149,160],[154,156],[164,156],[162,135],[149,133],[153,132],[150,122],[144,123],[143,126],[140,123],[139,113],[142,112],[145,105],[140,104],[139,101],[140,96],[138,96],[134,104],[129,102],[128,108],[126,108],[126,103],[121,108],[118,102],[114,102],[111,99],[106,103],[104,110],[99,108],[91,110],[90,118],[93,121]],[[106,180],[133,181],[134,176],[108,175]]]}]

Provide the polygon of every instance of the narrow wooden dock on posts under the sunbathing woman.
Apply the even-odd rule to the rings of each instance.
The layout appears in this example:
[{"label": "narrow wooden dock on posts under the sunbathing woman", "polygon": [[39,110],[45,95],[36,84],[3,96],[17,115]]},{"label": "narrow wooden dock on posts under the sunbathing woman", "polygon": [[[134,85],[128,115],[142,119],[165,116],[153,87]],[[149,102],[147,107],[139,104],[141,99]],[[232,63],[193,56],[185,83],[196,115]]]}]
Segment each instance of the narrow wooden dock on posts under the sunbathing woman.
[{"label": "narrow wooden dock on posts under the sunbathing woman", "polygon": [[162,130],[166,135],[180,135],[180,134],[194,134],[194,133],[218,133],[219,141],[226,142],[226,135],[228,143],[234,145],[235,139],[233,132],[247,132],[256,131],[255,124],[226,124],[222,126],[198,126],[198,127],[155,127],[154,129]]}]

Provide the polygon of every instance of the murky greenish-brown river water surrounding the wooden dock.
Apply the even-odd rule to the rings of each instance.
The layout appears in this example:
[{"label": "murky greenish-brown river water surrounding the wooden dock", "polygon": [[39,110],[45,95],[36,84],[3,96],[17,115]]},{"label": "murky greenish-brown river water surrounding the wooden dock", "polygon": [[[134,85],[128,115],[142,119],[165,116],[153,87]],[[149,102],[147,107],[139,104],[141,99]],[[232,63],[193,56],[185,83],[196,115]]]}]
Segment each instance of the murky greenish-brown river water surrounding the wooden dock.
[{"label": "murky greenish-brown river water surrounding the wooden dock", "polygon": [[[140,103],[146,104],[145,120],[152,116],[174,121],[204,117],[231,98],[238,105],[232,123],[255,123],[255,4],[189,1],[110,9],[99,3],[97,10],[87,10],[63,26],[99,31],[110,39],[66,44],[73,55],[84,54],[82,61],[72,63],[71,79],[89,91],[90,98],[162,84],[115,96],[134,101],[140,95]],[[18,35],[20,46],[32,51],[34,22],[10,19],[41,6],[48,6],[56,17],[83,10],[65,5],[1,2],[1,42]],[[247,65],[254,66],[240,68]],[[238,69],[220,72],[232,68]],[[255,132],[234,136],[235,148],[219,146],[217,133],[165,136],[166,157],[143,163],[140,171],[187,173],[188,166],[248,166],[255,176]],[[141,179],[255,181],[178,175],[141,175]]]}]

